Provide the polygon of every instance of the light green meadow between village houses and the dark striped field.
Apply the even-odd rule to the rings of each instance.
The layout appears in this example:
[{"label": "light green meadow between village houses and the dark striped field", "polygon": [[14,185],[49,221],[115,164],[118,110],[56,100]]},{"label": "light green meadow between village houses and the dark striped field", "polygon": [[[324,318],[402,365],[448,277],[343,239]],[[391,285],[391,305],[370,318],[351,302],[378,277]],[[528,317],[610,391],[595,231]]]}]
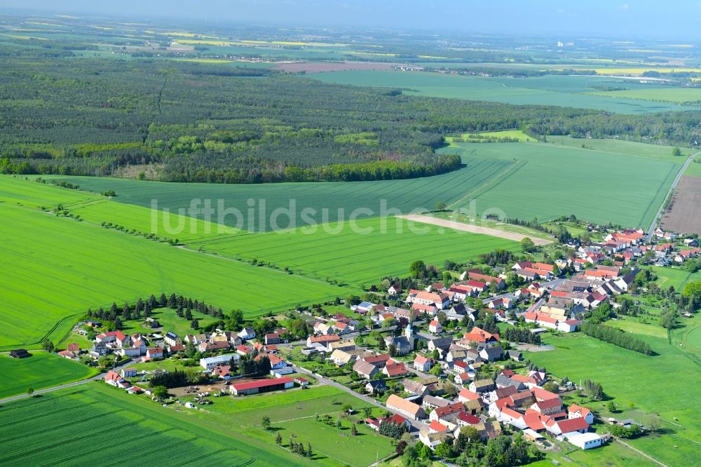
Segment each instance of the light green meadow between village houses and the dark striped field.
[{"label": "light green meadow between village houses and the dark striped field", "polygon": [[[341,420],[341,429],[316,420],[317,415],[329,415],[332,420],[341,412],[342,405],[349,403],[358,413]],[[257,438],[274,446],[275,436],[280,433],[283,445],[292,435],[297,442],[311,443],[315,451],[314,461],[322,465],[368,466],[393,452],[389,438],[376,434],[365,425],[358,425],[358,436],[350,434],[351,421],[364,418],[362,407],[367,407],[353,395],[329,386],[314,386],[305,391],[292,390],[244,398],[218,398],[207,407],[207,412],[193,413],[200,419],[222,427],[237,426],[240,433]],[[374,407],[374,416],[384,411]],[[271,431],[261,428],[263,417],[269,417]],[[318,451],[318,453],[317,453]]]}]

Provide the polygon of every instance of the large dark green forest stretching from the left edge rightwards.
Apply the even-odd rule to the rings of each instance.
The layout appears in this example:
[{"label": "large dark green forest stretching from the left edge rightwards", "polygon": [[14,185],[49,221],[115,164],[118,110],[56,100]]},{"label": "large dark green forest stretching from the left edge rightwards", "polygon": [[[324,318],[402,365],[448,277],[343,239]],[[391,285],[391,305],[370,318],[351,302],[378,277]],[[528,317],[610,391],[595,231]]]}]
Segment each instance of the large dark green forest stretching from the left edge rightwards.
[{"label": "large dark green forest stretching from the left edge rightwards", "polygon": [[[444,135],[547,135],[690,145],[701,112],[650,116],[413,97],[269,68],[0,57],[0,171],[170,182],[389,180],[461,167]],[[147,176],[148,174],[148,176]]]}]

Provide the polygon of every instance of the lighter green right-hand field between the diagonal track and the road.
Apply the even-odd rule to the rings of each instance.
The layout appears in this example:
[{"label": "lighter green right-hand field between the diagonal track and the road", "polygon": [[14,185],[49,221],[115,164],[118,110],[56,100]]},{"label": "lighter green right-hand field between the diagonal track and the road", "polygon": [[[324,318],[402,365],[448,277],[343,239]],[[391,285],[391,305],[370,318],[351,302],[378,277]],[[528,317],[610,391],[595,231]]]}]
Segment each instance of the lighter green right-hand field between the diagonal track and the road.
[{"label": "lighter green right-hand field between the diagonal track and the road", "polygon": [[[678,163],[651,158],[636,158],[633,165],[632,156],[627,154],[550,144],[460,143],[442,151],[458,151],[463,160],[513,164],[489,183],[467,191],[449,208],[467,207],[475,199],[477,212],[494,210],[510,218],[536,217],[540,221],[574,214],[589,222],[648,226],[680,168]],[[608,170],[601,170],[602,167]],[[618,176],[623,171],[627,177]],[[596,180],[588,174],[596,174]],[[572,184],[579,184],[581,190],[572,190]],[[641,186],[649,190],[643,194]],[[587,195],[601,191],[620,200],[626,208],[598,203],[596,196]]]}]

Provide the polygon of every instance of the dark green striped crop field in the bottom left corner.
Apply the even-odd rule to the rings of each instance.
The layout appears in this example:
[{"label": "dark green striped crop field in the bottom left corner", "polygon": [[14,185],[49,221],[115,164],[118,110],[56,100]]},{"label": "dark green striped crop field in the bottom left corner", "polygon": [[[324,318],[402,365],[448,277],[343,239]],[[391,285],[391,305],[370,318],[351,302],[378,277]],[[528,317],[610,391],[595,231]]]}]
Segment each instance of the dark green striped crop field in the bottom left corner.
[{"label": "dark green striped crop field in the bottom left corner", "polygon": [[125,452],[161,466],[311,464],[98,382],[12,402],[3,414],[4,466],[94,466]]}]

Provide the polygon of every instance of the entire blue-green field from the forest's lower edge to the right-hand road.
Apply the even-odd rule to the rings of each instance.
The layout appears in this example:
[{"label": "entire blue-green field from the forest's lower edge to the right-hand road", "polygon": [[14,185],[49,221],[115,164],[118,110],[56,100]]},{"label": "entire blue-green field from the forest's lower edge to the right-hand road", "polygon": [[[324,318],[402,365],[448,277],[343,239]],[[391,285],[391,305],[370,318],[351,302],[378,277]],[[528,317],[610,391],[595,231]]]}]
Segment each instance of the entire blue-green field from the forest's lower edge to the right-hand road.
[{"label": "entire blue-green field from the forest's lower edge to the right-hand road", "polygon": [[[583,148],[582,144],[594,149]],[[430,210],[438,202],[466,207],[472,199],[477,200],[477,215],[495,208],[519,219],[547,220],[575,214],[589,222],[639,226],[652,221],[683,163],[683,157],[671,155],[671,147],[618,140],[553,138],[553,142],[547,143],[458,143],[440,151],[459,152],[465,168],[411,180],[266,185],[54,177],[91,191],[114,189],[118,196],[110,202],[148,208],[155,198],[159,209],[168,208],[171,212],[189,208],[193,198],[208,198],[215,205],[216,200],[222,200],[225,208],[235,208],[240,217],[228,215],[216,219],[215,215],[213,222],[255,231],[269,230],[271,213],[277,208],[290,209],[291,203],[294,203],[294,226],[304,226],[310,223],[301,213],[306,208],[313,210],[308,217],[314,222],[326,223],[348,219],[357,208],[372,211],[372,214],[362,212],[362,217],[383,215],[383,202],[384,213],[391,215]],[[641,186],[648,189],[640,191]],[[587,198],[587,193],[592,195]],[[593,201],[600,194],[618,203]],[[252,208],[247,204],[249,199],[254,203]],[[625,209],[619,205],[625,205]],[[258,215],[261,208],[266,213],[263,222]],[[324,209],[327,211],[323,212]],[[107,216],[100,213],[95,220],[102,217]],[[285,215],[279,222],[283,228],[289,225]]]}]

